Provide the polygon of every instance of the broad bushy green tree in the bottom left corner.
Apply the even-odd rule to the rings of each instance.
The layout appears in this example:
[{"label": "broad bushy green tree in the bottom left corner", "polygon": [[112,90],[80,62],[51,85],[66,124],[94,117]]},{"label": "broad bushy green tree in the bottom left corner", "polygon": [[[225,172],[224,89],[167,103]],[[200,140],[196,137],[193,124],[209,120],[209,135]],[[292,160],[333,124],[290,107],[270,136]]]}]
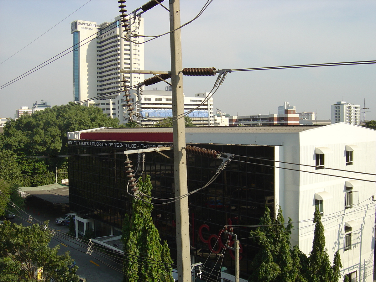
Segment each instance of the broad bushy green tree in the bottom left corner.
[{"label": "broad bushy green tree in the bottom left corner", "polygon": [[[48,221],[45,222],[48,225]],[[77,266],[69,252],[58,255],[59,245],[50,248],[52,234],[38,224],[23,226],[5,221],[0,228],[0,282],[35,282],[42,269],[42,281],[77,282]]]}]

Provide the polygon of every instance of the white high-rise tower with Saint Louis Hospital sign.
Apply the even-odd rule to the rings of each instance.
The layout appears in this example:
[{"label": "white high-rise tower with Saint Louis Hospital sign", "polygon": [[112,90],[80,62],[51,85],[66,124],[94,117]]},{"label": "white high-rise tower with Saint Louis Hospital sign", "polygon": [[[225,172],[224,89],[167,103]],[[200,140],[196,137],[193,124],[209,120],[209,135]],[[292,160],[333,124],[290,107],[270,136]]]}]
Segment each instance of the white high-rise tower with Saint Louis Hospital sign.
[{"label": "white high-rise tower with Saint Louis Hospital sign", "polygon": [[[132,34],[143,34],[143,18],[129,20]],[[123,105],[119,92],[123,74],[120,70],[143,70],[144,47],[142,37],[124,39],[120,17],[114,22],[97,24],[76,20],[71,23],[73,34],[73,100],[84,106],[99,106],[111,117],[123,121]],[[143,74],[124,74],[129,85],[144,80]],[[103,104],[103,105],[102,105]],[[114,108],[119,110],[114,112]],[[105,106],[105,107],[103,107]]]}]

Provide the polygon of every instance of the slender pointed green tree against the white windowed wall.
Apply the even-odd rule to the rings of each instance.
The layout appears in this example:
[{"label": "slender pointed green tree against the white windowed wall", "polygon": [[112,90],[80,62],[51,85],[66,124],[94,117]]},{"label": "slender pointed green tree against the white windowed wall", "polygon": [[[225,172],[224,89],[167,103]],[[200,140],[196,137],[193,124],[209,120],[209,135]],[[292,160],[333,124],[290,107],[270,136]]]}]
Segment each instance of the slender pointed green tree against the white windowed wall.
[{"label": "slender pointed green tree against the white windowed wall", "polygon": [[337,282],[340,277],[341,259],[337,251],[331,266],[329,255],[325,248],[324,226],[321,223],[321,215],[316,208],[314,213],[315,231],[312,243],[312,251],[308,257],[307,278],[309,282]]}]

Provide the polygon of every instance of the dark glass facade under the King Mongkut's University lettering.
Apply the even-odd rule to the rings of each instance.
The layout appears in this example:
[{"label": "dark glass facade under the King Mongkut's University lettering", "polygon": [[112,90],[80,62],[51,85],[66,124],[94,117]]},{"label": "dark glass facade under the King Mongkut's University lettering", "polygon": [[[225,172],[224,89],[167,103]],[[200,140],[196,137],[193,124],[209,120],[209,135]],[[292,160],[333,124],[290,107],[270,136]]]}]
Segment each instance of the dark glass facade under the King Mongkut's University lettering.
[{"label": "dark glass facade under the King Mongkut's University lettering", "polygon": [[[132,148],[167,145],[167,143],[139,143],[116,141],[68,141],[70,208],[72,211],[93,218],[96,237],[119,235],[124,215],[131,215],[131,197],[127,194],[127,177],[124,170],[126,156],[123,151]],[[115,144],[115,142],[112,142]],[[241,243],[241,277],[250,273],[250,262],[257,252],[249,232],[259,224],[265,205],[274,212],[274,146],[190,144],[239,156],[240,161],[230,161],[226,168],[208,187],[189,196],[190,244],[195,261],[206,261],[214,267],[218,255],[223,255],[222,266],[234,269],[232,251],[226,249],[228,235],[224,226],[234,228]],[[132,154],[136,177],[149,174],[152,196],[161,199],[174,197],[173,152]],[[100,154],[100,155],[95,155]],[[87,155],[87,156],[85,156]],[[258,158],[250,159],[249,157]],[[220,159],[187,155],[188,191],[208,183],[221,164]],[[270,165],[270,166],[268,166]],[[168,202],[155,200],[155,203]],[[175,205],[166,203],[154,207],[152,217],[162,240],[167,240],[171,256],[176,259]],[[219,255],[220,257],[222,255]],[[217,266],[218,268],[219,266]],[[219,271],[219,268],[217,269]]]}]

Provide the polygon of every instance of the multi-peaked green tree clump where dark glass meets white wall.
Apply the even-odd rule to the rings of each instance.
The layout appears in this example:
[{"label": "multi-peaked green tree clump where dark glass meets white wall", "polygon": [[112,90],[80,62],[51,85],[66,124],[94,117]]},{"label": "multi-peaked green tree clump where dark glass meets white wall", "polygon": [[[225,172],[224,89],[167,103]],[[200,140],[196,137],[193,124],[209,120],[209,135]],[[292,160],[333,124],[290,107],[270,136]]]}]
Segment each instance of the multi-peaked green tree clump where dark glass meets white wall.
[{"label": "multi-peaked green tree clump where dark glass meets white wall", "polygon": [[[264,216],[260,218],[260,226],[250,232],[260,250],[252,261],[254,271],[249,277],[250,282],[294,282],[304,280],[300,275],[300,251],[297,247],[290,248],[290,234],[293,225],[291,218],[285,226],[282,209],[277,216],[270,215],[265,206]],[[299,280],[300,279],[300,280]]]}]

